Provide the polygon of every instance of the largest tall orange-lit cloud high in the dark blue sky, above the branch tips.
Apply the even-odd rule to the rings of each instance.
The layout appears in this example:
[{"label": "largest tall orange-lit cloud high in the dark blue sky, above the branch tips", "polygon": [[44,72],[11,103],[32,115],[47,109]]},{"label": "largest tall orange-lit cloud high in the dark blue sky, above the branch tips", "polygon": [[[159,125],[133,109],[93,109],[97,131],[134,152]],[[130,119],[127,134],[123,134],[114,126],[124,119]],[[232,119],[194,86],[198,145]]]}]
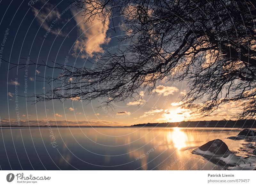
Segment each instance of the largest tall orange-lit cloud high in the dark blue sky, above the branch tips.
[{"label": "largest tall orange-lit cloud high in the dark blue sky, above the branch tips", "polygon": [[[80,52],[80,57],[83,58],[87,55],[92,56],[91,53],[103,52],[102,45],[108,44],[110,39],[107,36],[108,27],[102,23],[102,18],[96,14],[92,22],[85,23],[83,10],[73,8],[71,12],[77,24],[78,34],[81,35],[74,45],[74,55],[77,56]],[[105,23],[109,24],[108,18]]]}]

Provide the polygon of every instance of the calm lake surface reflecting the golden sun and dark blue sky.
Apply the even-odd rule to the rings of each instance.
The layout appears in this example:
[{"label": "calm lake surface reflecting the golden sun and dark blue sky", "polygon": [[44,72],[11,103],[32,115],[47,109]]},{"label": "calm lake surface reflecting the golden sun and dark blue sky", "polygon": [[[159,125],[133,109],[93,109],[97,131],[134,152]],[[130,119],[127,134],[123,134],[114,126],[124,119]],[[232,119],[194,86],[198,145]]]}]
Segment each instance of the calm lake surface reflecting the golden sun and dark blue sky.
[{"label": "calm lake surface reflecting the golden sun and dark blue sky", "polygon": [[[2,170],[222,170],[192,154],[214,139],[237,151],[232,128],[0,128]],[[239,153],[238,153],[239,155]],[[243,155],[243,154],[241,154]]]}]

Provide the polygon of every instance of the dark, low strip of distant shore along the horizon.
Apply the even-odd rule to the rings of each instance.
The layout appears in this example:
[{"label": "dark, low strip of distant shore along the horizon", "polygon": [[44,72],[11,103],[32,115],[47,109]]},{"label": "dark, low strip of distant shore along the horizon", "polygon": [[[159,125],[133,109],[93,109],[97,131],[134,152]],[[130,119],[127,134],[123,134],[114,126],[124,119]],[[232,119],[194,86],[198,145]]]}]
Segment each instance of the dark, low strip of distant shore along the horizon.
[{"label": "dark, low strip of distant shore along the horizon", "polygon": [[[256,120],[209,120],[209,121],[181,121],[181,122],[170,122],[170,123],[143,123],[135,124],[131,126],[90,126],[90,125],[80,125],[80,126],[58,126],[52,125],[50,127],[105,127],[105,128],[114,128],[114,127],[212,127],[212,128],[256,128]],[[18,125],[5,125],[0,128],[46,128],[47,125],[42,126],[18,126]]]}]

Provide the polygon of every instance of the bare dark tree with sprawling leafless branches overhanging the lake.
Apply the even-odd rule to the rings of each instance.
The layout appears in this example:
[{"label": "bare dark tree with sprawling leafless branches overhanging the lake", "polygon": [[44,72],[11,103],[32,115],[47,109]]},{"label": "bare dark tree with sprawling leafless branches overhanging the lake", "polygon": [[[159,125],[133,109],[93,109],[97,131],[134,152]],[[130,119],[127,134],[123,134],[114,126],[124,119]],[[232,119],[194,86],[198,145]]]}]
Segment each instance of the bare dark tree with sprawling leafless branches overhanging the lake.
[{"label": "bare dark tree with sprawling leafless branches overhanging the lake", "polygon": [[100,98],[101,106],[112,106],[142,100],[141,89],[152,93],[165,79],[184,81],[188,91],[181,100],[200,100],[196,107],[204,116],[239,101],[244,110],[238,117],[255,118],[255,0],[84,0],[76,6],[84,9],[85,22],[101,19],[106,27],[121,16],[125,35],[119,40],[130,45],[95,54],[95,68],[72,67],[46,79],[59,86],[37,101]]}]

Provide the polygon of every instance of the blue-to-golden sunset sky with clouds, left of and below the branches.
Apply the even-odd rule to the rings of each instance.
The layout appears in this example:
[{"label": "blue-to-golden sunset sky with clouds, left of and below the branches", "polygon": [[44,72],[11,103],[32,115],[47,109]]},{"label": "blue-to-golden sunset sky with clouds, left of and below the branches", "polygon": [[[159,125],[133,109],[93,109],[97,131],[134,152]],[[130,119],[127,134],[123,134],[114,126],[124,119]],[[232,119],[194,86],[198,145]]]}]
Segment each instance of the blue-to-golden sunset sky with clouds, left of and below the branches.
[{"label": "blue-to-golden sunset sky with clouds, left of and below the branches", "polygon": [[83,100],[34,104],[35,99],[31,96],[50,89],[44,83],[44,77],[57,77],[60,72],[43,66],[36,68],[36,65],[8,70],[12,65],[4,60],[14,64],[31,64],[33,61],[53,65],[54,61],[91,67],[88,59],[91,60],[92,53],[122,49],[124,43],[117,41],[124,34],[120,26],[122,17],[115,19],[114,32],[97,19],[91,24],[84,23],[82,9],[69,4],[68,0],[12,0],[0,4],[1,125],[127,126],[148,122],[230,119],[237,112],[237,103],[228,103],[209,117],[201,118],[193,105],[187,107],[180,102],[187,89],[184,82],[166,81],[158,82],[154,94],[141,91],[143,103],[139,106],[139,100],[114,103],[114,110],[97,109],[99,100],[89,104]]}]

